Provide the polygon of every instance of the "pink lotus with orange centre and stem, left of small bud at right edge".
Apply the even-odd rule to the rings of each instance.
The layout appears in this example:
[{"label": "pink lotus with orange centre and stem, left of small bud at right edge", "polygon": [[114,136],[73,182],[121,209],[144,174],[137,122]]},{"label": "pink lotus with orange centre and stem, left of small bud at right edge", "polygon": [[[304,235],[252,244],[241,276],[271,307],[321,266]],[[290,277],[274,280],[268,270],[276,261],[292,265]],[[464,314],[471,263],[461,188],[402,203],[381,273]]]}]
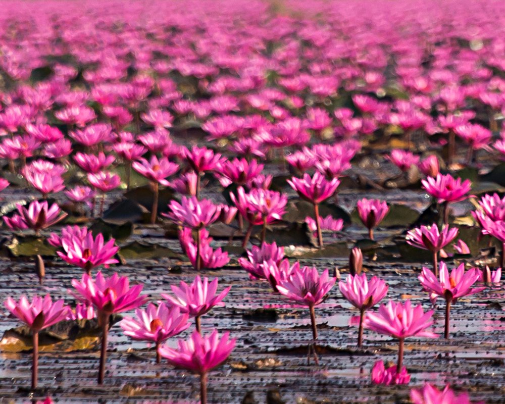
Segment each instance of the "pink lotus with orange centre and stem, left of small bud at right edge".
[{"label": "pink lotus with orange centre and stem, left of small bud at right edge", "polygon": [[449,315],[450,307],[456,303],[458,298],[470,294],[478,293],[485,289],[485,287],[472,288],[472,285],[479,280],[480,271],[477,268],[472,268],[465,272],[465,264],[461,264],[458,268],[449,271],[444,262],[440,263],[440,281],[437,280],[436,275],[428,268],[422,270],[419,275],[419,280],[423,289],[430,292],[430,300],[432,304],[438,296],[445,299],[445,331],[444,337],[449,338]]}]

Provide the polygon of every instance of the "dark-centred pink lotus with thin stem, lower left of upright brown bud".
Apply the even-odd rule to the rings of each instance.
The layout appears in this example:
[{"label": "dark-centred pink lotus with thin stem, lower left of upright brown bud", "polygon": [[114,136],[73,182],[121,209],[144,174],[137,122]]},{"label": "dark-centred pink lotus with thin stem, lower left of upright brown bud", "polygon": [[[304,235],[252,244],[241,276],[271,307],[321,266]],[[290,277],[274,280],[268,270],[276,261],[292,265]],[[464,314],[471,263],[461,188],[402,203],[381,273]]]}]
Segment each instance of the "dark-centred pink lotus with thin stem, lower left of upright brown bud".
[{"label": "dark-centred pink lotus with thin stem, lower left of upright brown bud", "polygon": [[[289,300],[298,304],[308,306],[312,324],[312,343],[314,349],[314,359],[318,364],[316,354],[317,325],[315,306],[320,305],[327,297],[328,292],[336,282],[336,278],[330,278],[327,269],[321,275],[315,267],[296,266],[291,269],[286,279],[280,279],[277,284],[277,291]],[[311,345],[309,345],[311,346]]]}]

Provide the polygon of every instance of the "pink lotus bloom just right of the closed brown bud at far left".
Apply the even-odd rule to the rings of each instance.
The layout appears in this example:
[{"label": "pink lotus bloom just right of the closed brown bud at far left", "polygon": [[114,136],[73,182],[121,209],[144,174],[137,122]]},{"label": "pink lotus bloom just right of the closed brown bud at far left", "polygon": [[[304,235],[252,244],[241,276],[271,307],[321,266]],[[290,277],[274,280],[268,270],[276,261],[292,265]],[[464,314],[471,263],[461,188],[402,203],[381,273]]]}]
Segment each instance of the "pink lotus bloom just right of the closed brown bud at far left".
[{"label": "pink lotus bloom just right of the closed brown bud at far left", "polygon": [[63,236],[62,231],[61,242],[64,252],[57,251],[56,254],[65,262],[84,269],[88,275],[93,268],[100,265],[108,268],[110,264],[119,262],[112,258],[119,250],[119,247],[114,245],[116,240],[111,238],[104,244],[102,233],[93,238],[91,232],[83,237],[82,233]]}]

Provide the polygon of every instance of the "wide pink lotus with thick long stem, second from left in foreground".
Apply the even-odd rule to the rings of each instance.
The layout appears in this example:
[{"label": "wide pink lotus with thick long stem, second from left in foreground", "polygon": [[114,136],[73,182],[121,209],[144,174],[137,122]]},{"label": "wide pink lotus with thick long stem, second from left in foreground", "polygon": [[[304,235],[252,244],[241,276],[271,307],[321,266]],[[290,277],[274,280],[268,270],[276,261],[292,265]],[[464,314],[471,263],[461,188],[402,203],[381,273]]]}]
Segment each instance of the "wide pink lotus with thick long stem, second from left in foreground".
[{"label": "wide pink lotus with thick long stem, second from left in foreground", "polygon": [[85,273],[82,274],[81,281],[72,279],[72,286],[76,290],[75,294],[72,294],[82,302],[90,302],[98,312],[98,323],[102,326],[102,350],[100,351],[98,384],[103,384],[110,315],[136,309],[144,304],[147,297],[140,294],[142,284],[130,288],[128,278],[126,276],[119,277],[117,273],[105,278],[102,272],[98,271],[94,280]]}]

